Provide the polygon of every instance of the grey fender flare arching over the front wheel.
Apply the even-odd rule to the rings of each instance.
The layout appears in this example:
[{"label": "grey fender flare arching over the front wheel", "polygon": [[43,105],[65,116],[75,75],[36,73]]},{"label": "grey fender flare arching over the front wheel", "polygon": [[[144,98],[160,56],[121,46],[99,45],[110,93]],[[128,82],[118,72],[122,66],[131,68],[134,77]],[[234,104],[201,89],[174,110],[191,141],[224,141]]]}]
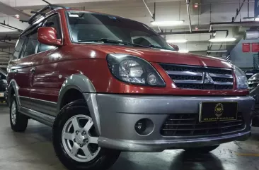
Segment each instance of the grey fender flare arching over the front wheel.
[{"label": "grey fender flare arching over the front wheel", "polygon": [[68,90],[71,89],[79,90],[79,92],[81,92],[84,96],[96,131],[98,135],[100,135],[100,115],[96,101],[96,88],[93,86],[93,83],[91,83],[91,80],[86,77],[86,75],[73,74],[64,81],[61,89],[59,90],[59,97],[57,101],[57,116],[59,114],[59,111],[62,109],[61,104],[64,95]]}]

